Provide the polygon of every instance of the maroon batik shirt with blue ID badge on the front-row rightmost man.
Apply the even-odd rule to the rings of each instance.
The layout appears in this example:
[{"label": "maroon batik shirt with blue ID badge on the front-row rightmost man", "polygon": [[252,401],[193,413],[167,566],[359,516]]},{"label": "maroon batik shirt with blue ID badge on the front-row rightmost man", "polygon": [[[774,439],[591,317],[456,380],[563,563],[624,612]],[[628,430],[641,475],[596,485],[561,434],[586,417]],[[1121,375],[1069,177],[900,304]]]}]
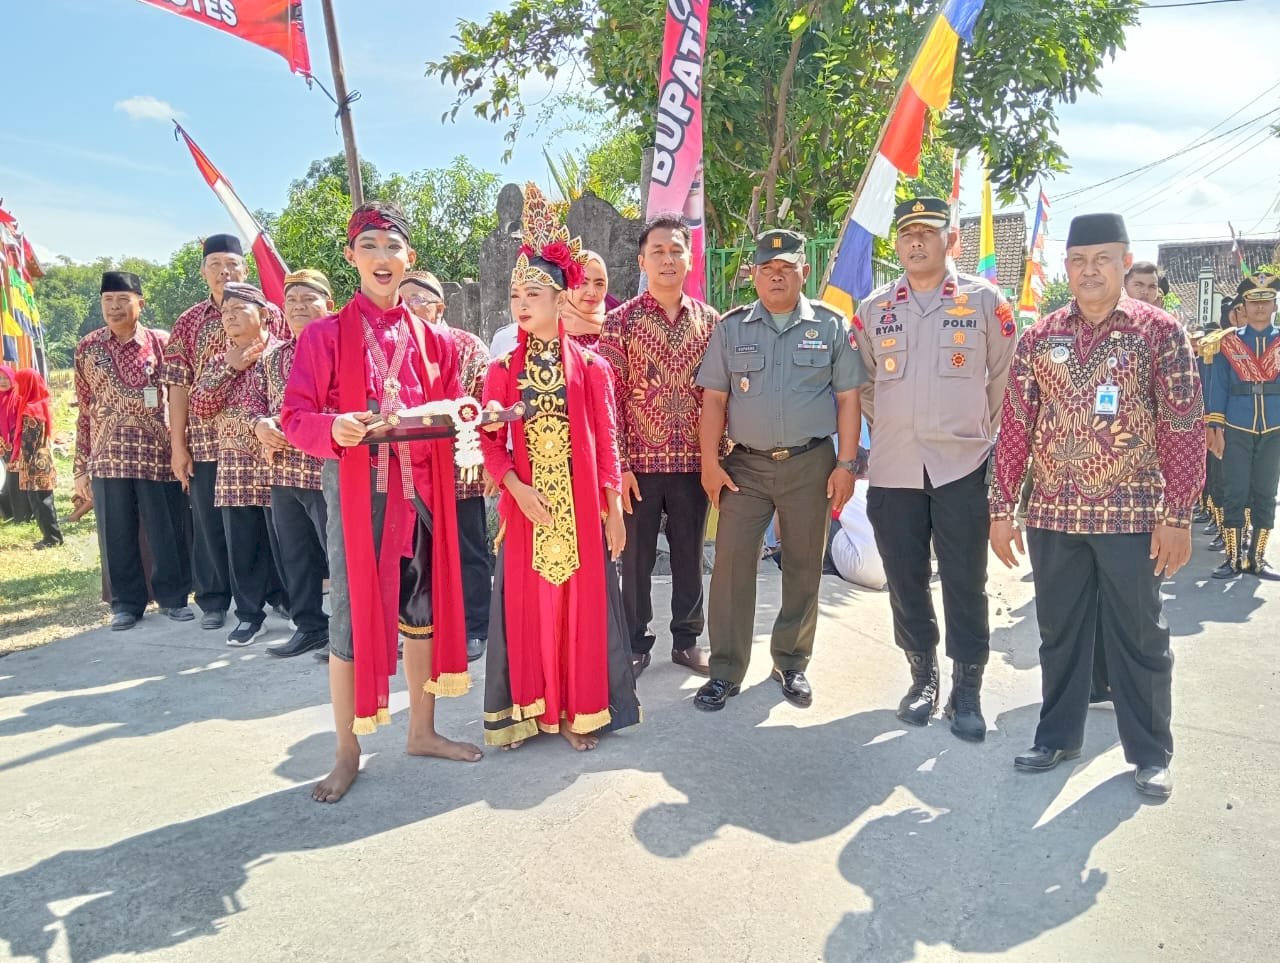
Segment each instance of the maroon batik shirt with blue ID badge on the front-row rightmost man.
[{"label": "maroon batik shirt with blue ID badge on the front-row rightmost man", "polygon": [[1073,301],[1018,342],[991,517],[1014,517],[1030,458],[1028,526],[1078,534],[1188,528],[1204,482],[1203,417],[1196,356],[1178,321],[1121,297],[1092,325]]}]

